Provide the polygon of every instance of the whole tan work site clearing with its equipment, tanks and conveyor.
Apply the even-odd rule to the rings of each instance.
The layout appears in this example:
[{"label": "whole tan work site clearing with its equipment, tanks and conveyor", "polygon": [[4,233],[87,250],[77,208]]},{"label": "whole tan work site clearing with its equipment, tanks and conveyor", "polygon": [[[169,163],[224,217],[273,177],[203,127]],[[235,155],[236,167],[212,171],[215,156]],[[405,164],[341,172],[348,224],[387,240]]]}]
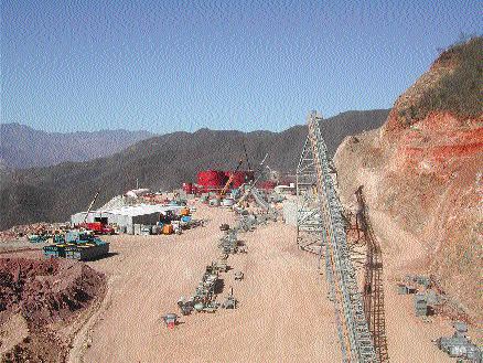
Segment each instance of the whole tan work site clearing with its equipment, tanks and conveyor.
[{"label": "whole tan work site clearing with its equipment, tanks and conveyor", "polygon": [[296,183],[257,188],[240,160],[17,229],[28,242],[0,250],[2,360],[481,362],[477,324],[418,266],[422,244],[364,185],[342,205],[321,122],[309,114]]}]

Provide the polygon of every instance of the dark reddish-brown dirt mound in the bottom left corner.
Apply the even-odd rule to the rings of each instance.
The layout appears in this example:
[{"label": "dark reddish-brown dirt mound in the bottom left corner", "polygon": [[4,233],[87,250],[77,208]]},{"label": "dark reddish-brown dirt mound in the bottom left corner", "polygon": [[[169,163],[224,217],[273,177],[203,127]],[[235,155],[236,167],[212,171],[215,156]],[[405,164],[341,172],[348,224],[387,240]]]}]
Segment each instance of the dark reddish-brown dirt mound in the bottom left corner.
[{"label": "dark reddish-brown dirt mound in the bottom left corner", "polygon": [[[104,290],[105,276],[83,263],[0,258],[0,353],[3,360],[63,361],[71,337],[57,331],[103,296]],[[25,334],[12,335],[14,329],[20,331],[24,327]]]}]

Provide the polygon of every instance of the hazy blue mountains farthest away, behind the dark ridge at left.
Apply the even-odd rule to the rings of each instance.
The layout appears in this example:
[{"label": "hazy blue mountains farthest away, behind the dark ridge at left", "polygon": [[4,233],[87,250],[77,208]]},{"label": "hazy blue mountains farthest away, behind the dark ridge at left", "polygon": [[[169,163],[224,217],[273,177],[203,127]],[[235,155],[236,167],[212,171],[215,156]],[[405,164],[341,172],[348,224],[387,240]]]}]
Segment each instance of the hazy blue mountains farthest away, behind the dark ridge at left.
[{"label": "hazy blue mountains farthest away, behind the dark ridge at left", "polygon": [[153,136],[127,130],[45,132],[20,124],[1,124],[0,167],[26,169],[103,158]]}]

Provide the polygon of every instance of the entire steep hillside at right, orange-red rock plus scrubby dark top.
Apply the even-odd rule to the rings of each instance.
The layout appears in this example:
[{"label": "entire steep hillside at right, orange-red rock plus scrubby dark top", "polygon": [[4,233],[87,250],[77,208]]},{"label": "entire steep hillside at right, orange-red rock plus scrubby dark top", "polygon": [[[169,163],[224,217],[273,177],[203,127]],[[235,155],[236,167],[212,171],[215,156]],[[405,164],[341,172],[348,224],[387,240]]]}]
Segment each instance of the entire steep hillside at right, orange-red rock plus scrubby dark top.
[{"label": "entire steep hillside at right, orange-red rock plus scrubby dark top", "polygon": [[482,54],[482,38],[443,52],[379,130],[345,139],[335,156],[343,201],[365,185],[372,209],[425,252],[407,270],[434,274],[474,319],[483,316]]}]

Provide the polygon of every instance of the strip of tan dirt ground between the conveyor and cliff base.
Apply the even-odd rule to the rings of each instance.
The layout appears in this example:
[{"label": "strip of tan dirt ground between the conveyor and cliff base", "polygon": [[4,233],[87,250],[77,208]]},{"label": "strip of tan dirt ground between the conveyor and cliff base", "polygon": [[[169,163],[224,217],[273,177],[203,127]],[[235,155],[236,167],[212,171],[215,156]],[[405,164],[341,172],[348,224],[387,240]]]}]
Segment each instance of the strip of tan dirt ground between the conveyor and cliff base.
[{"label": "strip of tan dirt ground between the conveyor and cliff base", "polygon": [[[386,333],[390,362],[454,362],[431,343],[431,340],[453,333],[451,321],[434,316],[425,322],[414,313],[414,296],[397,293],[399,278],[405,276],[414,259],[425,256],[426,250],[412,235],[401,231],[384,213],[374,211],[371,218],[383,249]],[[396,235],[397,242],[394,239]],[[469,333],[474,337],[476,331],[472,328]]]}]

